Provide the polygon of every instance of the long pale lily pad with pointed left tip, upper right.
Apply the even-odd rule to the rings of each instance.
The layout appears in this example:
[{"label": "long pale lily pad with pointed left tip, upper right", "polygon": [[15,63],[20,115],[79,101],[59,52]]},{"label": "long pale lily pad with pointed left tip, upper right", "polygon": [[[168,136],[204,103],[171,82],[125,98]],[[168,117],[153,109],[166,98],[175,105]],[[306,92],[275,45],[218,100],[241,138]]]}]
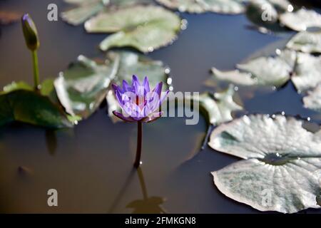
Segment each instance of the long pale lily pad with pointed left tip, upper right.
[{"label": "long pale lily pad with pointed left tip, upper right", "polygon": [[236,71],[219,71],[212,68],[214,78],[243,86],[280,87],[290,79],[295,65],[295,51],[284,50],[275,57],[253,58],[238,64]]}]

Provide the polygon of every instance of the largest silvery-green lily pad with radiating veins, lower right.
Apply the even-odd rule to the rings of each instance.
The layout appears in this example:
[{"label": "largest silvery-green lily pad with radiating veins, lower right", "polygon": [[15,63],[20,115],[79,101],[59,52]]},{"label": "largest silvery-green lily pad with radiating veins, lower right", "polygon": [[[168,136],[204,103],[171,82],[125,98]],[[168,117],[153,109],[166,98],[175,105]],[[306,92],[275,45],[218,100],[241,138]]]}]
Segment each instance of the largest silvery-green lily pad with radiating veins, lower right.
[{"label": "largest silvery-green lily pad with radiating veins, lower right", "polygon": [[320,208],[321,133],[302,123],[245,115],[213,130],[210,147],[244,159],[212,172],[218,190],[261,211]]}]

